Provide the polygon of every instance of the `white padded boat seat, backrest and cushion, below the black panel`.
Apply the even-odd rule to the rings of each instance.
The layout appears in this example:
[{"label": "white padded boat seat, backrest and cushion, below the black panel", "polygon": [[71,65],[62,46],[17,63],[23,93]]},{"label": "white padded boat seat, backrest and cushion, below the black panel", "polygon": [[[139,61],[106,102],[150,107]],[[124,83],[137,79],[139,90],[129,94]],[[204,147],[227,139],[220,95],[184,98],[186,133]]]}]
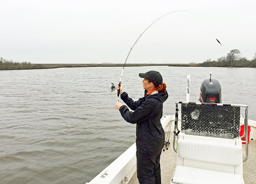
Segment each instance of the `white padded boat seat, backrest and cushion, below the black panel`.
[{"label": "white padded boat seat, backrest and cushion, below the black panel", "polygon": [[244,184],[242,141],[180,132],[171,184]]}]

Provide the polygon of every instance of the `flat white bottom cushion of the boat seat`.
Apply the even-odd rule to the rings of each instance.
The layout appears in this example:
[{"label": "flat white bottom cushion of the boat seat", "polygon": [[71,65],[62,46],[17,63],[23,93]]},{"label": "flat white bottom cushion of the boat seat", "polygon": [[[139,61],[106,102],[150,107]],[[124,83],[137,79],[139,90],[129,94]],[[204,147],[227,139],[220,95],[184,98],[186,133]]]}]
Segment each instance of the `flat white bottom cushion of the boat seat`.
[{"label": "flat white bottom cushion of the boat seat", "polygon": [[241,175],[180,165],[176,166],[171,182],[178,184],[244,184]]}]

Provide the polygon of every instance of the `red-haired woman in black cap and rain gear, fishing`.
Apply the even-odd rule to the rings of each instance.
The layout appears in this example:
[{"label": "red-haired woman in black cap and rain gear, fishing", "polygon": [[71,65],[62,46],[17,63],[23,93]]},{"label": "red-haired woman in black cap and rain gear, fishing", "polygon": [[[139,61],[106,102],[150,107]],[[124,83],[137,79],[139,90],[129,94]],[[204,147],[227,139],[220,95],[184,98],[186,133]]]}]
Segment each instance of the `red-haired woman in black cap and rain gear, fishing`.
[{"label": "red-haired woman in black cap and rain gear, fishing", "polygon": [[143,78],[145,95],[138,101],[128,97],[122,84],[117,87],[123,102],[134,111],[129,111],[128,107],[120,102],[115,103],[115,109],[120,111],[128,123],[136,123],[139,183],[161,184],[160,155],[164,145],[164,130],[160,119],[163,115],[163,102],[168,98],[166,83],[163,83],[162,75],[158,71],[151,70],[140,73],[139,76]]}]

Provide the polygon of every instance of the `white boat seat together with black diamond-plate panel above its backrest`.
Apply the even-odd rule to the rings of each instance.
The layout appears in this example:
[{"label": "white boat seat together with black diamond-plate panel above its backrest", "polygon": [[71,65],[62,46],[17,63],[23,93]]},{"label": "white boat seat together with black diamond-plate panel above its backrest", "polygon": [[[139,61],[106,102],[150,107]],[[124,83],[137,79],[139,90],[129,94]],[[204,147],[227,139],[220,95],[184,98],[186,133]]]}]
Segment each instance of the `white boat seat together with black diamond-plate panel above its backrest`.
[{"label": "white boat seat together with black diamond-plate panel above its backrest", "polygon": [[179,103],[181,132],[170,183],[244,184],[240,106]]}]

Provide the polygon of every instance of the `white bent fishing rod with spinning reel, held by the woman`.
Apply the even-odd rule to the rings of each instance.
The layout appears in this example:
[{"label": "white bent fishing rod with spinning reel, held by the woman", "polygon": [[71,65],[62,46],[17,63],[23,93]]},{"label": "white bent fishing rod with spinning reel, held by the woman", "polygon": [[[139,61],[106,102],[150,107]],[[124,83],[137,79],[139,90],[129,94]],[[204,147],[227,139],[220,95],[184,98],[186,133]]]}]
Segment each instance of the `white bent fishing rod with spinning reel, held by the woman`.
[{"label": "white bent fishing rod with spinning reel, held by the woman", "polygon": [[[130,48],[130,51],[129,51],[129,53],[128,53],[127,57],[126,57],[126,60],[125,60],[125,62],[124,62],[123,69],[122,69],[122,72],[121,72],[120,82],[119,82],[119,84],[118,84],[119,87],[121,87],[121,80],[122,80],[123,70],[124,70],[126,61],[127,61],[128,57],[129,57],[130,53],[132,52],[133,47],[134,47],[135,44],[137,43],[137,41],[138,41],[138,40],[141,38],[141,36],[148,30],[148,28],[149,28],[150,26],[152,26],[155,22],[157,22],[158,20],[160,20],[161,18],[163,18],[163,17],[166,16],[166,15],[169,15],[169,14],[171,14],[171,13],[176,13],[176,12],[188,12],[188,11],[187,11],[187,10],[177,10],[177,11],[173,11],[173,12],[166,13],[166,14],[160,16],[160,17],[159,17],[158,19],[156,19],[155,21],[153,21],[153,22],[140,34],[139,38],[137,38],[137,40],[134,42],[133,46]],[[114,83],[112,83],[111,91],[114,91],[115,89],[116,89],[116,86],[115,86]],[[119,101],[119,94],[120,94],[120,89],[117,90],[117,102]]]}]

